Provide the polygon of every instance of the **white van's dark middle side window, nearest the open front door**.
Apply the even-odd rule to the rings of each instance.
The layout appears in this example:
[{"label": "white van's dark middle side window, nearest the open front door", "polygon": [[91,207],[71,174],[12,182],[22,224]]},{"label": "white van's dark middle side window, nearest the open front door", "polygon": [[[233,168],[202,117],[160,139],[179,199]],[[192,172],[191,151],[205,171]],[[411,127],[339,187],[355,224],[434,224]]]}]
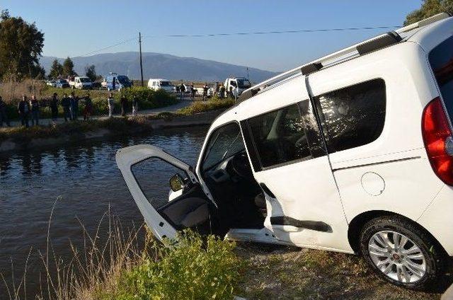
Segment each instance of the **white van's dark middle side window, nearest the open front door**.
[{"label": "white van's dark middle side window, nearest the open front door", "polygon": [[248,119],[263,168],[311,158],[297,104]]}]

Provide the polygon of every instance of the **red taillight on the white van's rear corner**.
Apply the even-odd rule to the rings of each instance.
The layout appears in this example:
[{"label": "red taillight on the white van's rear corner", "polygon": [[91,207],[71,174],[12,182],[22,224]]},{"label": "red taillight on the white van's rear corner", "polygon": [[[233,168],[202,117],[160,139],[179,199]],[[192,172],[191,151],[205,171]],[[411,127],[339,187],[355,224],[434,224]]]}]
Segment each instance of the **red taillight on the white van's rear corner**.
[{"label": "red taillight on the white van's rear corner", "polygon": [[440,98],[423,111],[422,131],[432,169],[444,183],[453,185],[453,135]]}]

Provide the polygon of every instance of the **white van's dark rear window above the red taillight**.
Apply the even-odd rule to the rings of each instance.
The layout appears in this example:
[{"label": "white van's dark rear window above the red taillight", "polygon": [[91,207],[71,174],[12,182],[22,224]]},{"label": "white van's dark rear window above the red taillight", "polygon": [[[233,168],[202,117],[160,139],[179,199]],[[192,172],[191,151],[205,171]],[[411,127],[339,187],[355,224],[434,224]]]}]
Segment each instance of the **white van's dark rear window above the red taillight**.
[{"label": "white van's dark rear window above the red taillight", "polygon": [[453,37],[435,47],[430,52],[429,59],[450,120],[453,121]]}]

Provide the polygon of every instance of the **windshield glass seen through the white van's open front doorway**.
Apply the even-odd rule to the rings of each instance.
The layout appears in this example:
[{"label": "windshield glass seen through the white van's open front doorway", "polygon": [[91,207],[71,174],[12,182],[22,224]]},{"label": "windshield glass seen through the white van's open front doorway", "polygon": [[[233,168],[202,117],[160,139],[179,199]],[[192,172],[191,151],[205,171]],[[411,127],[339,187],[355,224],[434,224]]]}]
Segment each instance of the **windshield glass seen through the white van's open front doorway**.
[{"label": "windshield glass seen through the white van's open front doorway", "polygon": [[216,129],[212,132],[206,149],[202,165],[203,171],[243,151],[245,146],[239,125],[231,123]]}]

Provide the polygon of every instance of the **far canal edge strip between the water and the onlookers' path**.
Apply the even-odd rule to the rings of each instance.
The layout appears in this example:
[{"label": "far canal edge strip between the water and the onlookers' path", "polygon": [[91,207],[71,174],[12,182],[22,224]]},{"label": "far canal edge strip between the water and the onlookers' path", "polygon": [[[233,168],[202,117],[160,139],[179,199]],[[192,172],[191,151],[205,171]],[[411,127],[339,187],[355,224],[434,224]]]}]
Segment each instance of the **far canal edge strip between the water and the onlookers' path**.
[{"label": "far canal edge strip between the water and the onlookers' path", "polygon": [[[211,125],[215,118],[223,112],[224,110],[213,110],[210,112],[197,113],[194,115],[177,115],[168,117],[166,119],[147,120],[146,128],[137,128],[137,130],[130,132],[130,134],[147,132],[150,128],[154,131],[168,128]],[[121,134],[124,134],[124,132],[122,132]],[[114,137],[115,135],[118,135],[118,133],[113,132],[110,129],[100,128],[96,131],[91,132],[77,132],[74,134],[63,134],[59,137],[37,138],[21,142],[17,142],[14,139],[6,139],[4,141],[0,141],[0,154],[27,149],[46,149],[60,144],[79,142],[87,139],[103,139],[106,137]]]}]

